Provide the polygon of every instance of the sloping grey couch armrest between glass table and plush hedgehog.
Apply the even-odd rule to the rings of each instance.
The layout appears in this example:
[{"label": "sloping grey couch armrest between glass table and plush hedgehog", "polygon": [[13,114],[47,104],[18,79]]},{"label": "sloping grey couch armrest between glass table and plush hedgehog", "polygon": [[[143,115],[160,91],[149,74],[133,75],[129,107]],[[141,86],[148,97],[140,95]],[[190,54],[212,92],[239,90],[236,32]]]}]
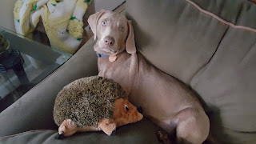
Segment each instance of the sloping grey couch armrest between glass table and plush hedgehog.
[{"label": "sloping grey couch armrest between glass table and plush hedgehog", "polygon": [[68,62],[2,111],[0,137],[27,130],[57,130],[53,109],[58,92],[78,78],[98,74],[94,43],[94,39],[90,38]]}]

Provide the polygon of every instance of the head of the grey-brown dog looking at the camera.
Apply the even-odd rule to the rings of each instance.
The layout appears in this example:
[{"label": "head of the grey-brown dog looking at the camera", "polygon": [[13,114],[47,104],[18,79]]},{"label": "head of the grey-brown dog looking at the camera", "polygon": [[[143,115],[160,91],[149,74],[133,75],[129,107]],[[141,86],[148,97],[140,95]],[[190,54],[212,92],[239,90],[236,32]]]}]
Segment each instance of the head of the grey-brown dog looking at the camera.
[{"label": "head of the grey-brown dog looking at the camera", "polygon": [[126,17],[101,10],[91,15],[88,22],[94,33],[94,40],[98,38],[94,45],[96,52],[110,55],[110,58],[114,58],[112,60],[115,60],[116,54],[125,49],[129,54],[136,53],[134,29],[131,21],[128,21]]}]

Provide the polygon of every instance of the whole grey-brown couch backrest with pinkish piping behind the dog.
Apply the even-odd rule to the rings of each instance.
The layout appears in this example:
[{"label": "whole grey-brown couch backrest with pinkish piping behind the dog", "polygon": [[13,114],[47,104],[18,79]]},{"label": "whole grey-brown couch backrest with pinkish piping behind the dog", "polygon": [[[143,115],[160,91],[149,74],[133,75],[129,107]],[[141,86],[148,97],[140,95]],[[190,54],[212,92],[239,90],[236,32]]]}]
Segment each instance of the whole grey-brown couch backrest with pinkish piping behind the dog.
[{"label": "whole grey-brown couch backrest with pinkish piping behind the dog", "polygon": [[192,86],[218,126],[256,138],[255,14],[243,0],[126,1],[146,59]]}]

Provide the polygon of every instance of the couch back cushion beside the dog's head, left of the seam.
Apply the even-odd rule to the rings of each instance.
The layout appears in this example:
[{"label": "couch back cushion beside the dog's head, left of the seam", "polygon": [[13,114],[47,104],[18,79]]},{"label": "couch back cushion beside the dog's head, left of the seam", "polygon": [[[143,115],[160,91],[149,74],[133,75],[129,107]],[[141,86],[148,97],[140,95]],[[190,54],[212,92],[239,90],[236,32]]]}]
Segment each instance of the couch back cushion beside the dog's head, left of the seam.
[{"label": "couch back cushion beside the dog's head, left of the seam", "polygon": [[126,11],[137,49],[158,69],[186,83],[209,62],[228,28],[186,0],[129,0]]}]

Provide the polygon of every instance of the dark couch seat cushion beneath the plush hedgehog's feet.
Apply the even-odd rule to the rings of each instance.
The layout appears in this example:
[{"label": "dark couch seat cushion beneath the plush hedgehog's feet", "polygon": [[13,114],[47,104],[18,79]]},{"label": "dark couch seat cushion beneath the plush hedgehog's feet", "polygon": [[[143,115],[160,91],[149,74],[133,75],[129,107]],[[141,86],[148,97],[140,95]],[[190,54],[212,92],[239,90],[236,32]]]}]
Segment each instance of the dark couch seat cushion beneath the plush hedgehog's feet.
[{"label": "dark couch seat cushion beneath the plush hedgehog's feet", "polygon": [[42,144],[69,144],[69,143],[160,143],[156,136],[156,130],[158,128],[152,124],[152,122],[143,119],[140,122],[136,122],[130,125],[118,127],[114,136],[107,136],[103,132],[88,132],[74,134],[69,138],[63,138],[62,140],[55,139],[58,135],[57,130],[35,130],[22,134],[16,134],[5,138],[0,138],[0,143],[42,143]]}]

